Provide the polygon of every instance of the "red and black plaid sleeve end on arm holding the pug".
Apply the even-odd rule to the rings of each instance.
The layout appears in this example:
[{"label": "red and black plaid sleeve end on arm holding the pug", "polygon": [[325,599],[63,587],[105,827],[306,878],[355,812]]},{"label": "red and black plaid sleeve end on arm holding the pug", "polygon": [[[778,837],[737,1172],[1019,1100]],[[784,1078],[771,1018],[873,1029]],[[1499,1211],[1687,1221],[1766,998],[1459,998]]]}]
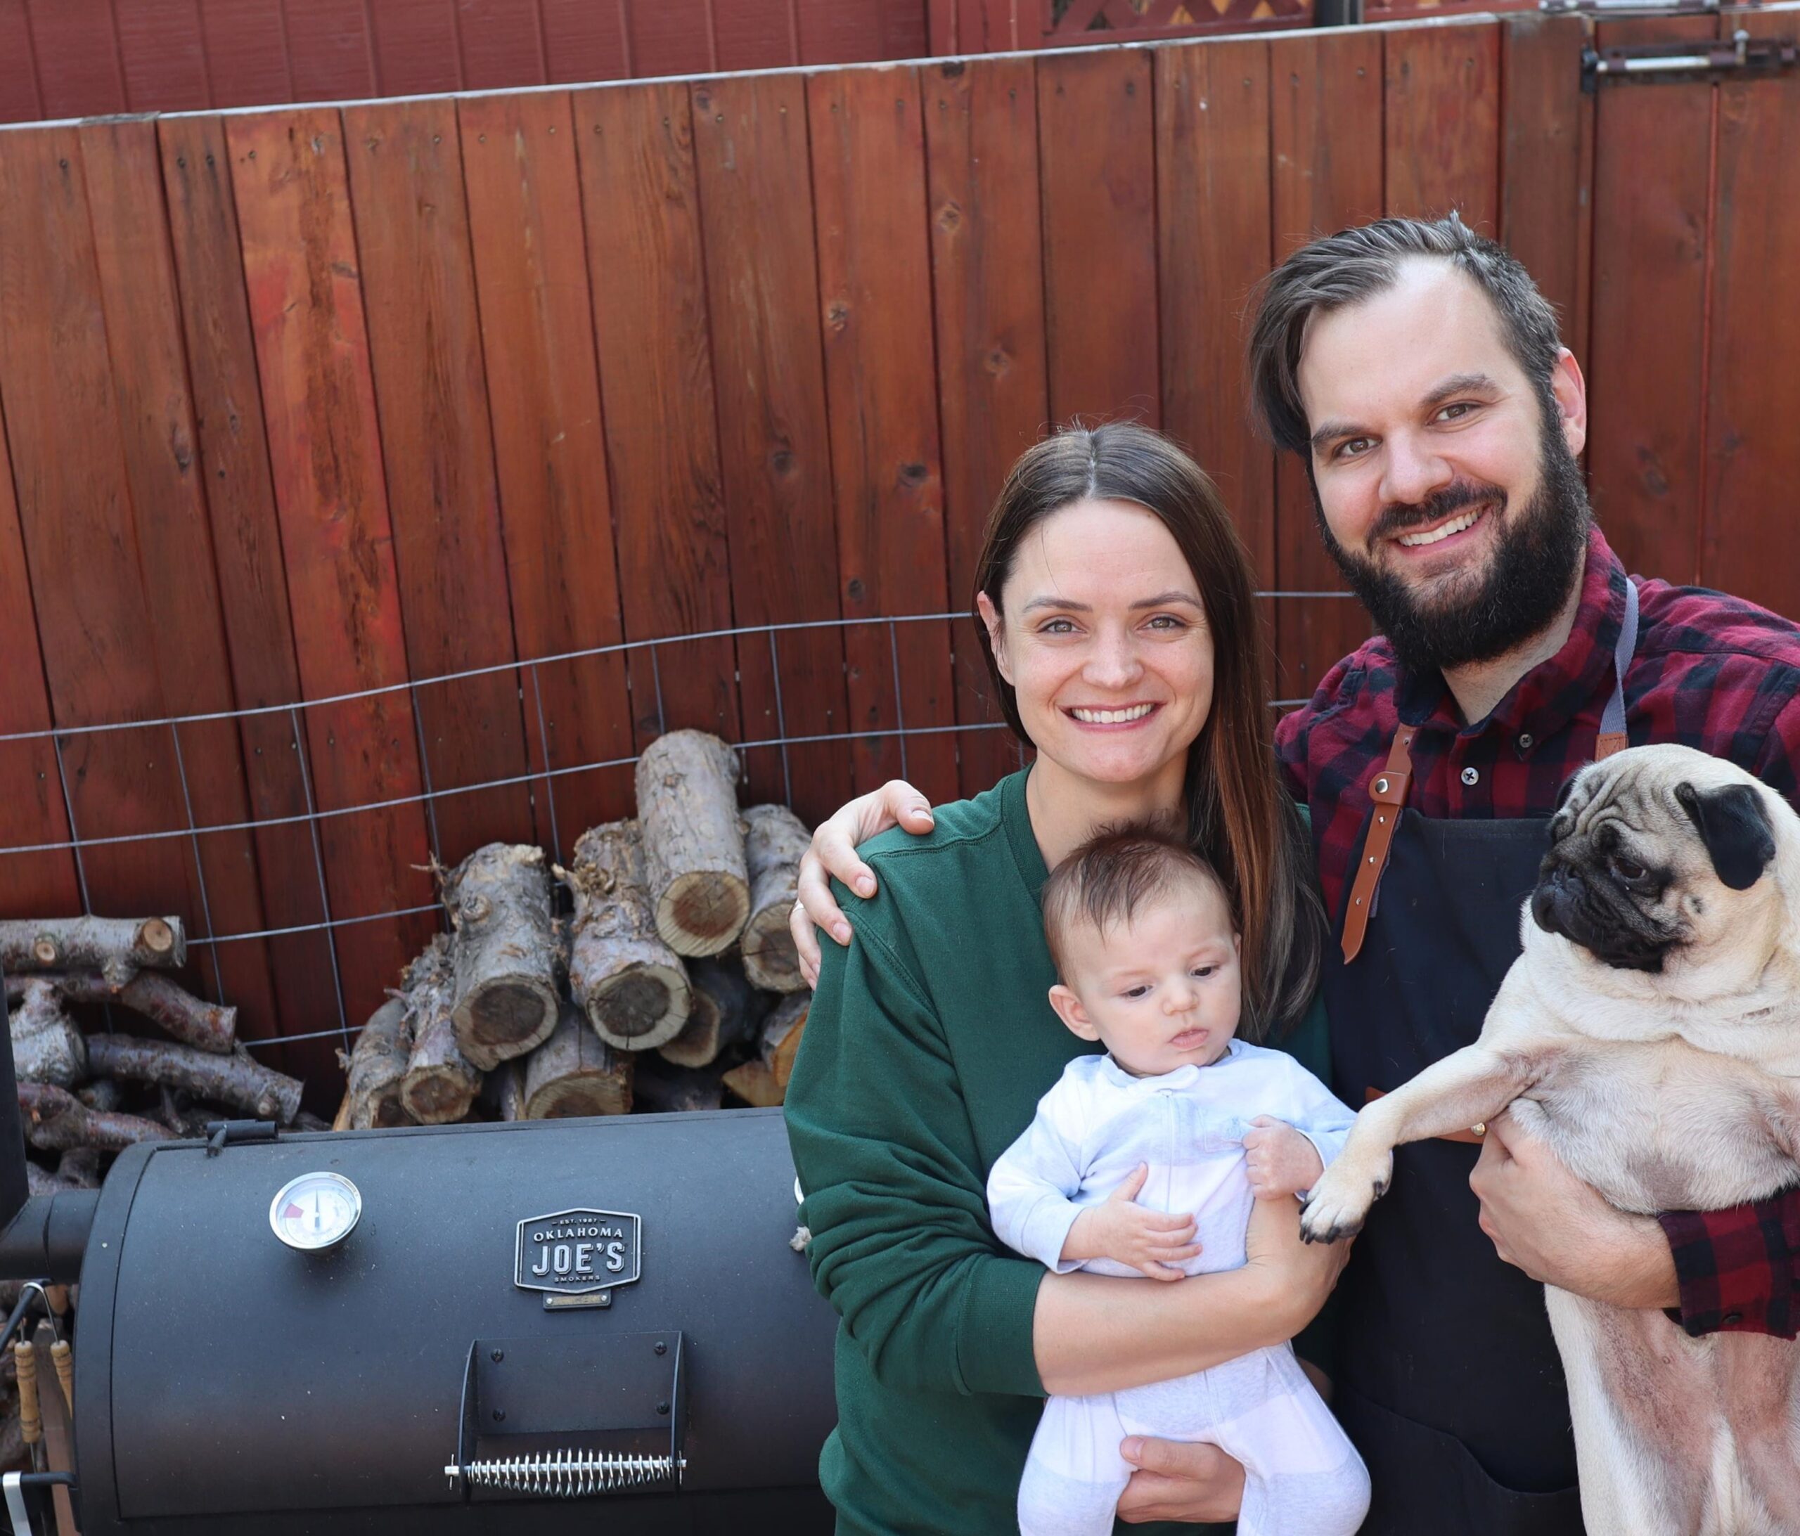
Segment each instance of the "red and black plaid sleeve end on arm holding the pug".
[{"label": "red and black plaid sleeve end on arm holding the pug", "polygon": [[1800,1189],[1730,1210],[1665,1210],[1688,1335],[1800,1331]]}]

